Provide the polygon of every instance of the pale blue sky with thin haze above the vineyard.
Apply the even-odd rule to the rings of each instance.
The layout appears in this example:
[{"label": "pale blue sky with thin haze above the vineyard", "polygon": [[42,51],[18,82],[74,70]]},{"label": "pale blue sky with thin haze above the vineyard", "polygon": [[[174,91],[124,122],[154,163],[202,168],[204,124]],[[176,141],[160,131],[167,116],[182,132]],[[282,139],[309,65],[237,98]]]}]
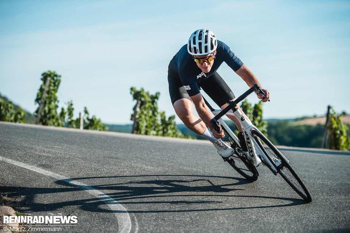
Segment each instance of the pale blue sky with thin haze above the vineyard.
[{"label": "pale blue sky with thin haze above the vineyard", "polygon": [[[265,119],[324,115],[327,105],[350,113],[348,0],[0,0],[0,93],[34,112],[41,74],[54,70],[59,106],[72,100],[75,117],[86,106],[105,123],[131,123],[131,86],[159,91],[160,110],[174,115],[168,63],[200,28],[269,90]],[[247,90],[225,63],[218,72],[236,96]]]}]

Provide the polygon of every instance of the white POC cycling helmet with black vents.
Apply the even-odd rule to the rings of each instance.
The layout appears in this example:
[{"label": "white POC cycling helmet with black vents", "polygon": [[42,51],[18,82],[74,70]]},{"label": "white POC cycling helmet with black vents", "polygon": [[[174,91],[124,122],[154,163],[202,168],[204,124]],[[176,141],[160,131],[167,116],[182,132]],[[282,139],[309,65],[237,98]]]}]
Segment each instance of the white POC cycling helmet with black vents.
[{"label": "white POC cycling helmet with black vents", "polygon": [[218,46],[216,37],[212,31],[199,29],[192,33],[187,43],[187,51],[194,56],[211,54]]}]

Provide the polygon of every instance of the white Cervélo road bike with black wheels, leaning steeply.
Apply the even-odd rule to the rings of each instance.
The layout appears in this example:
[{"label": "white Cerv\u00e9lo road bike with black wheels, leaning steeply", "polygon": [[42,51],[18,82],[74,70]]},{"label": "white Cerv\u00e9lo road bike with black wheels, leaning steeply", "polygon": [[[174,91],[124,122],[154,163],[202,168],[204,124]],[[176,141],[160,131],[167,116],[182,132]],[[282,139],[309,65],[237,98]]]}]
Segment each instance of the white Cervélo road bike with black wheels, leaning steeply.
[{"label": "white Cerv\u00e9lo road bike with black wheels, leaning steeply", "polygon": [[[261,87],[255,84],[235,100],[230,100],[228,106],[223,110],[216,110],[204,99],[214,118],[210,121],[211,126],[220,132],[219,126],[224,130],[225,137],[222,139],[226,144],[235,150],[235,153],[228,158],[223,158],[240,175],[248,181],[254,182],[258,179],[257,167],[262,164],[269,168],[276,176],[280,174],[283,179],[300,195],[306,202],[311,202],[312,197],[304,182],[296,174],[287,158],[267,139],[267,137],[255,127],[250,119],[245,117],[236,105],[243,101],[248,95],[256,92],[266,98],[266,94]],[[237,118],[243,129],[245,142],[239,142],[238,137],[232,132],[230,127],[222,119],[224,115],[231,115]],[[245,143],[246,148],[240,143]],[[245,148],[244,151],[242,148]]]}]

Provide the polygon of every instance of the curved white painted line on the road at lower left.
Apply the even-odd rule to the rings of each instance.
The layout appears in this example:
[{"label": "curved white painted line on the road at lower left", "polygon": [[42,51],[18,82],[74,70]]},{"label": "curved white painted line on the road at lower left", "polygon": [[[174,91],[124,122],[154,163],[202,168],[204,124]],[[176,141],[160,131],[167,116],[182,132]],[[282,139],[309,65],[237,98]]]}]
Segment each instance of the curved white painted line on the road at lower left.
[{"label": "curved white painted line on the road at lower left", "polygon": [[[63,182],[66,182],[68,184],[77,186],[83,190],[85,190],[86,192],[88,192],[90,195],[99,198],[100,200],[102,200],[104,203],[106,203],[106,205],[114,212],[114,214],[117,217],[117,221],[118,221],[118,232],[120,233],[130,233],[131,232],[131,219],[130,219],[130,215],[127,212],[127,210],[124,208],[123,205],[119,204],[116,200],[114,200],[113,198],[111,198],[110,196],[108,196],[107,194],[100,192],[86,184],[80,183],[78,181],[75,181],[73,179],[70,179],[68,177],[62,176],[62,175],[58,175],[56,173],[35,167],[33,165],[29,165],[26,163],[22,163],[19,161],[15,161],[12,160],[10,158],[5,158],[0,156],[0,160],[7,162],[7,163],[11,163],[13,165],[22,167],[22,168],[26,168],[28,170],[31,171],[35,171],[38,172],[40,174],[43,174],[45,176],[49,176],[58,180],[62,180]],[[120,213],[121,212],[121,213]],[[138,231],[138,224],[135,221],[135,227],[134,227],[134,232],[136,233]]]}]

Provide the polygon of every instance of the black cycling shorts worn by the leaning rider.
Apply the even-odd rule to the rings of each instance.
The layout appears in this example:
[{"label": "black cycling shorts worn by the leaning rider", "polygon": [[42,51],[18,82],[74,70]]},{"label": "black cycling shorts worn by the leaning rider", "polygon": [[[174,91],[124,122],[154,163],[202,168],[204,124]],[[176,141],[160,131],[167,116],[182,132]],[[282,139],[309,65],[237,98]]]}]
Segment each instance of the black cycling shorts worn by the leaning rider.
[{"label": "black cycling shorts worn by the leaning rider", "polygon": [[[169,66],[172,65],[170,62]],[[169,94],[174,105],[175,101],[179,99],[189,99],[187,91],[183,87],[180,77],[173,69],[168,69],[168,83],[169,83]],[[215,72],[209,78],[206,78],[198,83],[198,86],[208,94],[208,96],[219,106],[223,106],[229,100],[235,98],[235,95],[231,91],[230,87],[222,79],[222,77]]]}]

